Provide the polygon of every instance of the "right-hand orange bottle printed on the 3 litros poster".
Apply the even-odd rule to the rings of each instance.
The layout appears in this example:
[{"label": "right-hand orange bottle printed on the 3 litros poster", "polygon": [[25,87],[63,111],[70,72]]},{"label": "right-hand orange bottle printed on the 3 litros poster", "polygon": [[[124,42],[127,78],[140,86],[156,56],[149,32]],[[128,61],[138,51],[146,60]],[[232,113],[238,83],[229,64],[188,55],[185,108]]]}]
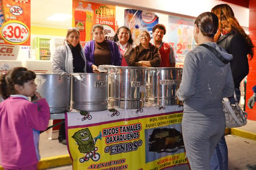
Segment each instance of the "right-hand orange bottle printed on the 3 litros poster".
[{"label": "right-hand orange bottle printed on the 3 litros poster", "polygon": [[93,9],[91,9],[91,4],[85,8],[86,11],[86,36],[85,41],[91,40],[91,27],[93,25]]}]

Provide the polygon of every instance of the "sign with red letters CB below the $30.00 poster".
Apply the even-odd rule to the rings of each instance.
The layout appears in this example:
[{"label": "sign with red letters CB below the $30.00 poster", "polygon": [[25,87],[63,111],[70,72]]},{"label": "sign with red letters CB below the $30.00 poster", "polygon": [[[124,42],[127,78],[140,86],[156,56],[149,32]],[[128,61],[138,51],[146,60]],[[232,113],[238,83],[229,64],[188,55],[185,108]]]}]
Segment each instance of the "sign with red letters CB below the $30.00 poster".
[{"label": "sign with red letters CB below the $30.00 poster", "polygon": [[0,60],[16,60],[19,53],[19,46],[0,45]]}]

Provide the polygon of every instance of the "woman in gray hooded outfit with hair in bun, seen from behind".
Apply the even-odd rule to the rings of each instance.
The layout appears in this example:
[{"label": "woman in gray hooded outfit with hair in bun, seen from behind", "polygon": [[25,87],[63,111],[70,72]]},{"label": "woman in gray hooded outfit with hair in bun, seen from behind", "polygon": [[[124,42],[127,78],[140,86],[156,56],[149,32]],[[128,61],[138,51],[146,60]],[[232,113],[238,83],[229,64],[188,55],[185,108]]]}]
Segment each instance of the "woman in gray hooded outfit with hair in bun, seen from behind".
[{"label": "woman in gray hooded outfit with hair in bun, seen from behind", "polygon": [[191,169],[210,169],[211,154],[225,131],[222,97],[234,92],[230,64],[201,45],[209,45],[227,62],[232,55],[214,43],[218,19],[211,12],[194,21],[194,40],[198,47],[188,52],[177,96],[184,102],[181,122],[183,141]]}]

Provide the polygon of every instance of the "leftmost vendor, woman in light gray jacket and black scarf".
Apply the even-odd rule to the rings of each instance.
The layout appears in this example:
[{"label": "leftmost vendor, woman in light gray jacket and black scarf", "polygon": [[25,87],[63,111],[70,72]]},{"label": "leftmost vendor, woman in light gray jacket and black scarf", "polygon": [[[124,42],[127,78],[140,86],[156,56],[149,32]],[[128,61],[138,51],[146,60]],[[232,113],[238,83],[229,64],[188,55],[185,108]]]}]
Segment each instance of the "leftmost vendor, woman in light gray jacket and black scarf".
[{"label": "leftmost vendor, woman in light gray jacket and black scarf", "polygon": [[[80,45],[80,32],[77,29],[69,29],[66,33],[64,45],[58,47],[53,54],[52,73],[85,73],[85,53]],[[65,123],[60,125],[58,141],[66,145]]]}]

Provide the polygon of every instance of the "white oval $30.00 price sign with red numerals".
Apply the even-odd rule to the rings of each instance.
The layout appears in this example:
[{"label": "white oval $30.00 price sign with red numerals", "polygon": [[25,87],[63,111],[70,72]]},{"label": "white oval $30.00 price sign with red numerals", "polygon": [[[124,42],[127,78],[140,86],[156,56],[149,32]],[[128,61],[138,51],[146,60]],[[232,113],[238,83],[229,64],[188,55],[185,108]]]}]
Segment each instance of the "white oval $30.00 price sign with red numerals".
[{"label": "white oval $30.00 price sign with red numerals", "polygon": [[19,20],[9,20],[2,25],[1,30],[4,40],[11,44],[21,44],[29,39],[29,28]]}]

